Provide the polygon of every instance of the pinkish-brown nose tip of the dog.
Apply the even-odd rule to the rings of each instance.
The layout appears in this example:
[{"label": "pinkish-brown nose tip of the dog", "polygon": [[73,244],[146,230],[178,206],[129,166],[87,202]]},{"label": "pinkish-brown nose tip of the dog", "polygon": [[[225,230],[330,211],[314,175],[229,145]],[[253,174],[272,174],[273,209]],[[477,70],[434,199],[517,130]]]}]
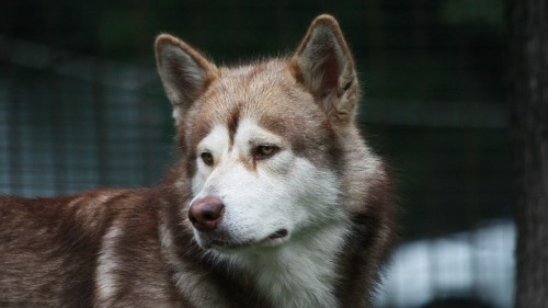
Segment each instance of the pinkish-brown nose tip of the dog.
[{"label": "pinkish-brown nose tip of the dog", "polygon": [[219,198],[205,197],[194,201],[189,209],[189,219],[198,231],[212,231],[222,220],[225,205]]}]

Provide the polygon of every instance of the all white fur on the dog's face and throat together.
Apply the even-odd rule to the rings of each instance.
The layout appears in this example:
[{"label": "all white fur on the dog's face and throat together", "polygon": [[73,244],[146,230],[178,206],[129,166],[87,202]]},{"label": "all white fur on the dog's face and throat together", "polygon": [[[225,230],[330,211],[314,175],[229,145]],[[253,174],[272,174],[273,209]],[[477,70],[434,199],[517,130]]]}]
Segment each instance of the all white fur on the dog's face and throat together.
[{"label": "all white fur on the dog's face and throat together", "polygon": [[[275,145],[279,151],[255,161],[253,170],[252,149],[259,145]],[[218,228],[235,243],[251,243],[214,247],[218,256],[254,275],[276,307],[336,307],[333,260],[349,226],[346,214],[336,208],[336,175],[295,156],[287,140],[249,118],[240,122],[232,146],[228,129],[216,125],[197,150],[194,199],[221,198],[225,215]],[[213,167],[201,161],[202,151],[213,155]],[[279,229],[288,235],[269,239]],[[194,232],[207,247],[210,235]]]}]

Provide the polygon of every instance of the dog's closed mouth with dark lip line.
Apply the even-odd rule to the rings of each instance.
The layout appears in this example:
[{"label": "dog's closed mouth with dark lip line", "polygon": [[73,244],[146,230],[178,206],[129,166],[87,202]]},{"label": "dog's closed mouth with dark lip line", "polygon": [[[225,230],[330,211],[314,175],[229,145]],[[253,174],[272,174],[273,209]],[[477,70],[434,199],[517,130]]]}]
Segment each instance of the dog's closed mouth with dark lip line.
[{"label": "dog's closed mouth with dark lip line", "polygon": [[244,248],[264,248],[276,247],[285,241],[289,231],[287,229],[278,229],[261,240],[239,240],[227,236],[212,236],[203,241],[204,248],[218,250],[237,250]]}]

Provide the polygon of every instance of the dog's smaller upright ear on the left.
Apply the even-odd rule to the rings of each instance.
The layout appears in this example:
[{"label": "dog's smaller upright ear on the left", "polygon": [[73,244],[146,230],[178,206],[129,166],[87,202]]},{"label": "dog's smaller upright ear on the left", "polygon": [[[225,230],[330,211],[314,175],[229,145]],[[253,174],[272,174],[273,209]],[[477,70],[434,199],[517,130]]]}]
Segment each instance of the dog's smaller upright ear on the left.
[{"label": "dog's smaller upright ear on the left", "polygon": [[169,34],[155,44],[158,72],[173,107],[185,110],[217,78],[217,67],[198,52]]}]

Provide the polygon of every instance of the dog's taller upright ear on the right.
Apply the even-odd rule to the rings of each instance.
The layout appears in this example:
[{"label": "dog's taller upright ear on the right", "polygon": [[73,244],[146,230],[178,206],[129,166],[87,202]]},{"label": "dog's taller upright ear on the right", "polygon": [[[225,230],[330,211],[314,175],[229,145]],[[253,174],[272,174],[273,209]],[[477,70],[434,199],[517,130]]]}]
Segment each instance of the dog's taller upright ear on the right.
[{"label": "dog's taller upright ear on the right", "polygon": [[339,23],[320,15],[295,53],[292,64],[297,79],[309,89],[339,125],[353,122],[358,100],[354,60]]}]

